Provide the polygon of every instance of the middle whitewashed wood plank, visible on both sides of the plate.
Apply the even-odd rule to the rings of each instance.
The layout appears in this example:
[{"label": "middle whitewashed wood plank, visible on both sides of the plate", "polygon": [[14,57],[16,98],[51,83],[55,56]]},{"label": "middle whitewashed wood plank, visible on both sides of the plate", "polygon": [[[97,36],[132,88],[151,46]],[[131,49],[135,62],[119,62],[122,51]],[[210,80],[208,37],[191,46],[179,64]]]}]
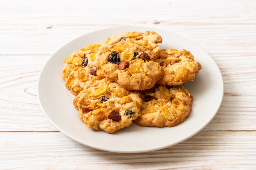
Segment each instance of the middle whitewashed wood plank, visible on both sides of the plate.
[{"label": "middle whitewashed wood plank, visible on both sides of the plate", "polygon": [[[204,131],[255,131],[256,55],[211,56],[222,72],[225,95],[217,116]],[[1,56],[0,131],[58,131],[44,116],[36,96],[38,74],[49,57]]]}]

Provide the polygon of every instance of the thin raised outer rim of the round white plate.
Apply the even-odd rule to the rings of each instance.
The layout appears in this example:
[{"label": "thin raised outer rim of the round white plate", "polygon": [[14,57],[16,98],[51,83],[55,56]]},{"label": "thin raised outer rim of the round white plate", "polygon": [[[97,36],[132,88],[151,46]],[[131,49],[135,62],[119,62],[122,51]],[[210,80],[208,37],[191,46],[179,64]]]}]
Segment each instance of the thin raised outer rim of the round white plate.
[{"label": "thin raised outer rim of the round white plate", "polygon": [[222,104],[222,101],[223,101],[223,96],[224,96],[224,82],[223,82],[223,78],[222,78],[222,74],[220,72],[220,68],[218,67],[217,63],[213,60],[213,58],[209,55],[210,59],[213,61],[213,63],[217,66],[218,68],[218,74],[220,74],[220,78],[221,78],[221,94],[222,94],[222,97],[221,97],[221,100],[220,100],[220,103],[218,104],[218,109],[216,109],[216,112],[215,114],[213,114],[213,116],[211,117],[211,119],[209,119],[209,121],[202,127],[200,128],[199,130],[195,131],[195,133],[189,135],[188,137],[185,137],[184,139],[178,141],[178,142],[175,142],[175,143],[172,143],[172,144],[169,144],[169,145],[165,145],[165,146],[161,146],[161,147],[155,147],[155,148],[151,148],[151,149],[144,149],[144,150],[138,150],[138,151],[134,151],[134,150],[114,150],[114,149],[107,149],[107,148],[102,148],[102,147],[99,147],[99,146],[96,146],[96,145],[93,145],[93,144],[90,144],[90,143],[87,143],[87,142],[84,142],[80,139],[77,139],[76,137],[66,133],[65,131],[63,131],[61,128],[59,128],[50,118],[49,116],[47,115],[47,113],[45,112],[45,109],[42,107],[42,104],[41,104],[41,100],[40,100],[40,93],[39,93],[39,88],[40,88],[40,79],[41,79],[41,75],[43,73],[43,71],[45,70],[47,64],[49,63],[49,61],[52,59],[52,57],[58,53],[60,50],[62,50],[65,46],[67,46],[68,44],[71,44],[73,41],[76,41],[77,39],[85,36],[85,35],[88,35],[90,33],[94,33],[94,32],[97,32],[97,31],[105,31],[105,30],[110,30],[110,29],[113,29],[113,28],[129,28],[129,27],[132,27],[134,29],[136,28],[143,28],[143,29],[148,29],[148,30],[161,30],[161,31],[166,31],[166,32],[170,32],[174,35],[177,35],[177,36],[180,36],[182,38],[184,38],[186,41],[189,41],[190,43],[192,43],[193,45],[197,46],[198,48],[202,49],[205,53],[207,53],[209,55],[208,52],[206,52],[202,47],[200,47],[198,44],[194,43],[193,41],[187,39],[186,37],[182,36],[182,35],[178,35],[176,33],[173,33],[171,31],[168,31],[168,30],[164,30],[164,29],[160,29],[160,28],[154,28],[154,27],[148,27],[148,26],[132,26],[132,25],[128,25],[128,26],[115,26],[115,27],[110,27],[110,28],[104,28],[104,29],[99,29],[99,30],[96,30],[96,31],[92,31],[92,32],[89,32],[89,33],[86,33],[86,34],[83,34],[83,35],[80,35],[79,37],[76,37],[75,39],[72,39],[71,41],[69,41],[68,43],[64,44],[63,46],[61,46],[61,48],[59,48],[58,50],[56,50],[56,52],[54,52],[54,54],[51,55],[51,57],[49,57],[49,59],[47,59],[47,61],[45,62],[43,68],[41,69],[40,71],[40,74],[38,76],[38,83],[37,83],[37,97],[38,97],[38,101],[39,101],[39,105],[43,111],[43,113],[45,114],[45,116],[47,117],[47,119],[56,127],[56,129],[58,129],[61,133],[63,133],[65,136],[73,139],[74,141],[80,143],[80,144],[83,144],[85,146],[89,146],[91,148],[95,148],[95,149],[98,149],[98,150],[104,150],[104,151],[108,151],[108,152],[113,152],[113,153],[145,153],[145,152],[150,152],[150,151],[154,151],[154,150],[160,150],[160,149],[163,149],[163,148],[168,148],[170,146],[174,146],[176,144],[179,144],[191,137],[193,137],[194,135],[196,135],[197,133],[199,133],[200,131],[202,131],[202,129],[204,129],[212,120],[213,118],[216,116],[216,114],[218,113],[218,110],[220,109],[221,107],[221,104]]}]

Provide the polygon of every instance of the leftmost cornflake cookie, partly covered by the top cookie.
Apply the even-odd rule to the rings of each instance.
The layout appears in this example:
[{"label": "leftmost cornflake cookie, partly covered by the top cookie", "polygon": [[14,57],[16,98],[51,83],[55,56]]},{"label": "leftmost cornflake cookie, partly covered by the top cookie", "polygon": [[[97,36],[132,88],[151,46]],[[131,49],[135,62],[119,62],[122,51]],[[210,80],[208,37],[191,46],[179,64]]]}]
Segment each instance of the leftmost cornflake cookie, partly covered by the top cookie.
[{"label": "leftmost cornflake cookie, partly covered by the top cookie", "polygon": [[74,51],[64,62],[62,77],[67,89],[74,95],[79,94],[83,88],[89,87],[95,80],[103,77],[97,74],[97,61],[99,55],[110,45],[89,44],[81,50]]}]

